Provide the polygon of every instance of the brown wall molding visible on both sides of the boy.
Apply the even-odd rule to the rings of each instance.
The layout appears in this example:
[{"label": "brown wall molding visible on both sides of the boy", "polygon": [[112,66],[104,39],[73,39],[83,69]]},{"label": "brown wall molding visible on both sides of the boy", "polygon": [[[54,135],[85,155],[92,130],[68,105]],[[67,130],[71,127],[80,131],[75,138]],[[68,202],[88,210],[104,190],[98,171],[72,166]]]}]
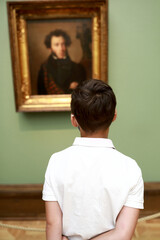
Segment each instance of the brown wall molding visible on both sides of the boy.
[{"label": "brown wall molding visible on both sides of the boy", "polygon": [[[45,219],[42,184],[0,185],[0,220]],[[144,184],[145,208],[140,217],[160,212],[160,182]]]}]

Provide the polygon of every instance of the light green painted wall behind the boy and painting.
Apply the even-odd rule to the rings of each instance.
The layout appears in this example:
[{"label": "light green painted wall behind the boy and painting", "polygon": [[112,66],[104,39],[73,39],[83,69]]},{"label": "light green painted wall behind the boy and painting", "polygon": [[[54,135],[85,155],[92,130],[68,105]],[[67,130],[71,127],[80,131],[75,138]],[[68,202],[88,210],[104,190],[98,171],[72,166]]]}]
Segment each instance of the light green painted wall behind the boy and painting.
[{"label": "light green painted wall behind the boy and painting", "polygon": [[[109,1],[110,138],[145,181],[160,181],[160,1]],[[16,113],[6,0],[0,0],[0,183],[42,183],[50,155],[79,135],[66,113]]]}]

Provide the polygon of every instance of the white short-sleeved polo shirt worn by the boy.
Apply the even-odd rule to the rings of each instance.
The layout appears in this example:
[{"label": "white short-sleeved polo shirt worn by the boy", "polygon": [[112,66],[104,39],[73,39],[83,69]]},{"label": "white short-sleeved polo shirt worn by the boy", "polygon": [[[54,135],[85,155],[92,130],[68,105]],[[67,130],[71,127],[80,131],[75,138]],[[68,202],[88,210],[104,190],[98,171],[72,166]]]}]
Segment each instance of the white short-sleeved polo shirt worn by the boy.
[{"label": "white short-sleeved polo shirt worn by the boy", "polygon": [[143,208],[141,170],[109,139],[76,138],[52,155],[43,200],[58,201],[70,240],[90,239],[113,229],[123,206]]}]

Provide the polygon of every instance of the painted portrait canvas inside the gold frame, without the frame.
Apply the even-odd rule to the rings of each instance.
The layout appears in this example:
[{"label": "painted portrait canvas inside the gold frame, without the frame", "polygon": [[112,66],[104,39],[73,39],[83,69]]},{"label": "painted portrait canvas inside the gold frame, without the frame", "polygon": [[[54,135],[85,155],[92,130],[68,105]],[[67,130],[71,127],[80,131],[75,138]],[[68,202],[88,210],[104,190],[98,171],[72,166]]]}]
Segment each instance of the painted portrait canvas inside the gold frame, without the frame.
[{"label": "painted portrait canvas inside the gold frame, without the frame", "polygon": [[27,23],[32,95],[71,94],[91,78],[90,19]]}]

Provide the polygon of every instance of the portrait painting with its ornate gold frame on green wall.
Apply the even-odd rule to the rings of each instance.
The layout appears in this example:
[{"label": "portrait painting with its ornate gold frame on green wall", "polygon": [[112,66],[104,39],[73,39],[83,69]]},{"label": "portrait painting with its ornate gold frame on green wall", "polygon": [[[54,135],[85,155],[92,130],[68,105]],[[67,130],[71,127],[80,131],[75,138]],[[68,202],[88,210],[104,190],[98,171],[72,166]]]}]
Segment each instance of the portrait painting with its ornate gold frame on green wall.
[{"label": "portrait painting with its ornate gold frame on green wall", "polygon": [[7,2],[16,110],[69,111],[82,81],[107,82],[106,0]]}]

